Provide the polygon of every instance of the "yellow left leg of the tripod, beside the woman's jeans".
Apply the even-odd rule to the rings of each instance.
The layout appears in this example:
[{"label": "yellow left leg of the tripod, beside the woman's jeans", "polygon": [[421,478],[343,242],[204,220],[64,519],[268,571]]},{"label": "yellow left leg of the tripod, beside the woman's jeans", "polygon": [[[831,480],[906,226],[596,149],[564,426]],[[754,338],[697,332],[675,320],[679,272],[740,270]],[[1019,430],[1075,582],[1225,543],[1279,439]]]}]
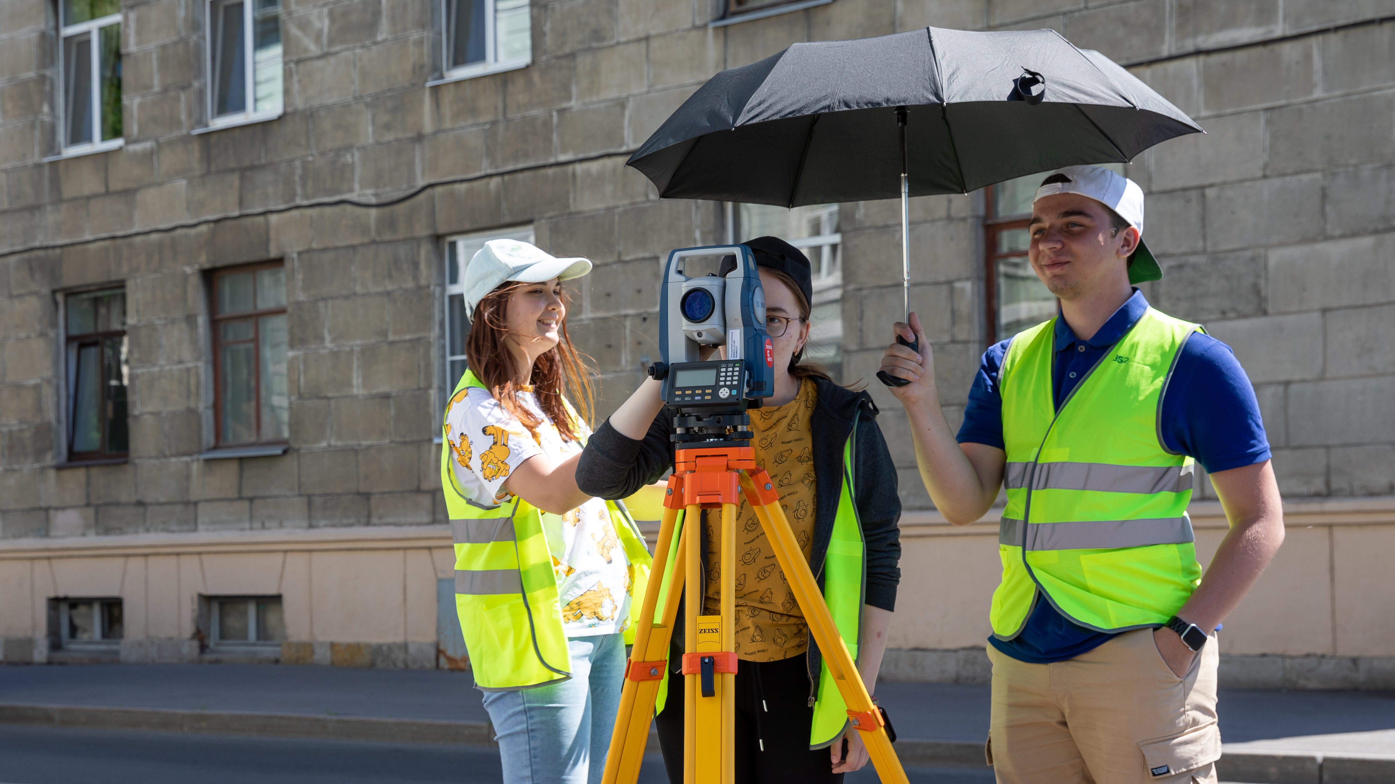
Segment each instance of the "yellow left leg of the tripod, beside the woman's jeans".
[{"label": "yellow left leg of the tripod, beside the woman's jeans", "polygon": [[[639,778],[639,766],[649,741],[649,723],[654,714],[654,699],[660,684],[668,677],[668,643],[674,634],[674,620],[678,617],[678,599],[682,596],[684,539],[688,536],[688,526],[678,521],[678,514],[679,510],[665,508],[658,528],[654,565],[640,604],[635,646],[631,650],[631,663],[626,664],[625,687],[621,691],[619,710],[615,713],[610,753],[605,756],[605,773],[601,777],[604,784],[635,784]],[[664,575],[670,571],[672,577],[668,579],[668,593],[661,595]],[[657,664],[657,678],[649,671],[631,673],[636,663],[646,661]],[[631,675],[646,680],[635,680]]]}]

